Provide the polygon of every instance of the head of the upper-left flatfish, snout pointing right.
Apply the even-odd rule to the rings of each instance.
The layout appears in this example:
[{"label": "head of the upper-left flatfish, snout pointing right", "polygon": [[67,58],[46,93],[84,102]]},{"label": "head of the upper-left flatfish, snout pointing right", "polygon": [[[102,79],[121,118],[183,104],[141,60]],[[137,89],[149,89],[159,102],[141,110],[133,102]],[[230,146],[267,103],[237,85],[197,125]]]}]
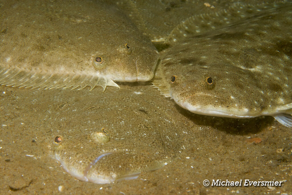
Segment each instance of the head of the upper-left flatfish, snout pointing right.
[{"label": "head of the upper-left flatfish, snout pointing right", "polygon": [[141,35],[136,40],[114,44],[107,53],[98,52],[92,58],[99,75],[118,82],[148,81],[154,75],[158,52]]}]

